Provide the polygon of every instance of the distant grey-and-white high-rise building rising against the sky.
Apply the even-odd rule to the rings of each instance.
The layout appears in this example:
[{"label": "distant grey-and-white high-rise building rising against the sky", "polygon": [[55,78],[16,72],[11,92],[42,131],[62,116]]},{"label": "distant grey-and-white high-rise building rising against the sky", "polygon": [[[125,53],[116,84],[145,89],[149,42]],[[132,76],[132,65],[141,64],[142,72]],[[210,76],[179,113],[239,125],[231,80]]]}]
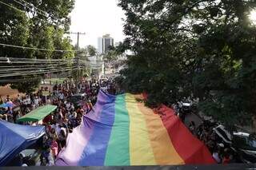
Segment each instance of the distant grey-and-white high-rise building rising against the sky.
[{"label": "distant grey-and-white high-rise building rising against the sky", "polygon": [[107,53],[110,50],[110,46],[114,46],[114,38],[110,38],[110,34],[104,35],[102,38],[98,38],[98,53]]}]

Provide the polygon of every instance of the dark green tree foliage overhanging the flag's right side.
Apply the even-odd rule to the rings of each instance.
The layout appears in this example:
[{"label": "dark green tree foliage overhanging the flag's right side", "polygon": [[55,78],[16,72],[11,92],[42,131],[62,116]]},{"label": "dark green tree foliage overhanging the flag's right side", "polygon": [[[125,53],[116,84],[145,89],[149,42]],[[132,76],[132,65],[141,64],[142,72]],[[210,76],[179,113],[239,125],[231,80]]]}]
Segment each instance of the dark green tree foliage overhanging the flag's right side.
[{"label": "dark green tree foliage overhanging the flag's right side", "polygon": [[250,1],[128,1],[122,70],[126,89],[149,94],[148,105],[199,97],[205,114],[248,125],[256,115],[256,27]]}]

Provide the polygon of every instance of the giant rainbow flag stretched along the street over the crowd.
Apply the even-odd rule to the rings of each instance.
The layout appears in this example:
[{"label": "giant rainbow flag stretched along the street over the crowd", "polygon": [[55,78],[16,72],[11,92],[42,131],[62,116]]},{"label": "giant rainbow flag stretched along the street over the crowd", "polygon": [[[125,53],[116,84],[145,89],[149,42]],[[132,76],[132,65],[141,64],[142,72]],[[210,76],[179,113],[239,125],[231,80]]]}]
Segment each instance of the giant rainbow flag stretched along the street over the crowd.
[{"label": "giant rainbow flag stretched along the street over the crowd", "polygon": [[67,139],[58,166],[214,164],[210,152],[165,106],[162,117],[126,93],[102,91]]}]

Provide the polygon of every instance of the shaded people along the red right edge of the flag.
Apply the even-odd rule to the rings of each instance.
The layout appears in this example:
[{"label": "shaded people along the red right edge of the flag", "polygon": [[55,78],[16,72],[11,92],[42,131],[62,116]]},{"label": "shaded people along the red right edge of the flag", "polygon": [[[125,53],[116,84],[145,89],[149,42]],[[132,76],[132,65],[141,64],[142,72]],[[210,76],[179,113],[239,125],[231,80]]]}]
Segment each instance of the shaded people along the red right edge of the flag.
[{"label": "shaded people along the red right edge of the flag", "polygon": [[[174,113],[180,118],[180,120],[189,128],[190,132],[201,140],[206,147],[209,148],[214,160],[218,164],[239,163],[237,153],[231,149],[230,144],[227,144],[222,140],[222,137],[214,130],[218,127],[218,123],[214,120],[205,120],[198,115],[198,99],[192,100],[190,97],[187,99],[179,100],[176,104],[171,105],[174,109]],[[200,125],[196,125],[194,121],[191,121],[188,117],[199,117],[202,121]],[[193,120],[193,119],[192,119]],[[230,142],[231,143],[231,142]]]}]

